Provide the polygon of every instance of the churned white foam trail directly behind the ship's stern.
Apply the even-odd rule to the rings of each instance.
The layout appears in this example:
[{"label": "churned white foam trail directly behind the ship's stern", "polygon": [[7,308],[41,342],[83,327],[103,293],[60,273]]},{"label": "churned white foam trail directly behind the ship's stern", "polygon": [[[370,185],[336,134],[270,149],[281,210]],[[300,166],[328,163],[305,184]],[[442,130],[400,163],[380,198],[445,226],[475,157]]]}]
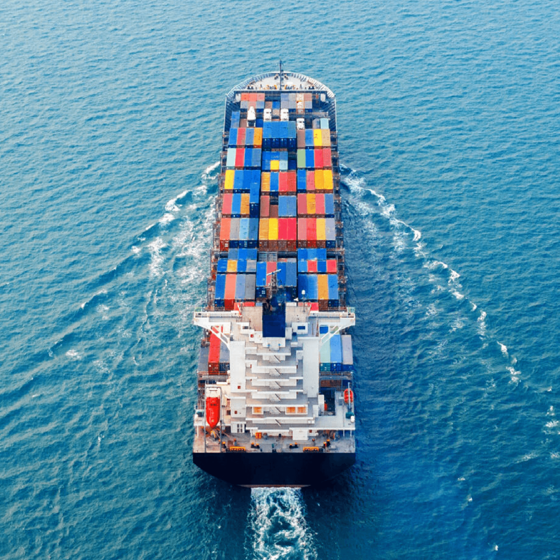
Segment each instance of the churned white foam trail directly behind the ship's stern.
[{"label": "churned white foam trail directly behind the ship's stern", "polygon": [[297,488],[253,488],[248,515],[248,556],[256,560],[315,560],[305,503]]}]

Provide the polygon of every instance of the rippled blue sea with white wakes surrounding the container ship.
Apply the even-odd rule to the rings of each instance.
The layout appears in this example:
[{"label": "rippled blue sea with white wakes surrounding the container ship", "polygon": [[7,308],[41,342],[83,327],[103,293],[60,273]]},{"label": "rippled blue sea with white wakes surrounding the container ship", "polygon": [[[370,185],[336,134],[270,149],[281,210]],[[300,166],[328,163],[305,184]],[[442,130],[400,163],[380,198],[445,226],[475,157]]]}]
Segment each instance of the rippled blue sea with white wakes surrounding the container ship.
[{"label": "rippled blue sea with white wakes surrounding the container ship", "polygon": [[[0,4],[0,558],[560,558],[560,4]],[[191,460],[225,94],[337,95],[357,463]]]}]

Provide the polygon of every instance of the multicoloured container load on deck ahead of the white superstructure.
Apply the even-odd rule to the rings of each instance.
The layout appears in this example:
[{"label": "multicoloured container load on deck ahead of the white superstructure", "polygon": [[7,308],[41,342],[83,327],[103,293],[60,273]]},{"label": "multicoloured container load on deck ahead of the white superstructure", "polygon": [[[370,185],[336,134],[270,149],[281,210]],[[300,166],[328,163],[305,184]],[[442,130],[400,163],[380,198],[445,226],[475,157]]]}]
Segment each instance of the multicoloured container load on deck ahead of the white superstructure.
[{"label": "multicoloured container load on deck ahead of the white superstructure", "polygon": [[[224,135],[216,207],[217,309],[262,301],[273,281],[288,300],[309,301],[312,309],[344,305],[336,144],[327,114],[309,92],[240,94]],[[328,363],[342,364],[342,357]]]}]

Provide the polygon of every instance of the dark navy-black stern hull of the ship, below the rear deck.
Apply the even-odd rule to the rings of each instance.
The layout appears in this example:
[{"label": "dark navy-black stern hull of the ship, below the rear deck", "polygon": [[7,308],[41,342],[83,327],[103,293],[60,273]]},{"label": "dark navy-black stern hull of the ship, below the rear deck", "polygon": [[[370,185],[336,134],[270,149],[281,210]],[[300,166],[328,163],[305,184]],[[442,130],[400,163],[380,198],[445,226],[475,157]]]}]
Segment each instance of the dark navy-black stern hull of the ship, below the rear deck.
[{"label": "dark navy-black stern hull of the ship, below the rear deck", "polygon": [[356,462],[355,453],[193,453],[194,464],[239,486],[314,486]]}]

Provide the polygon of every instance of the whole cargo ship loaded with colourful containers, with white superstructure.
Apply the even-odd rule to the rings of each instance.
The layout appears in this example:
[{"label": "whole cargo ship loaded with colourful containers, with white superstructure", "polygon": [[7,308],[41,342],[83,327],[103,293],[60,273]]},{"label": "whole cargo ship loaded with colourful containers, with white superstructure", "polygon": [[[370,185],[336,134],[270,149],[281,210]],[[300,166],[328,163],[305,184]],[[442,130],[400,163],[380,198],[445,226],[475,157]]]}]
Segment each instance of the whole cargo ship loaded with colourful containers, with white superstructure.
[{"label": "whole cargo ship loaded with colourful containers, with white superstructure", "polygon": [[193,461],[246,487],[304,487],[355,461],[336,103],[304,74],[226,95]]}]

